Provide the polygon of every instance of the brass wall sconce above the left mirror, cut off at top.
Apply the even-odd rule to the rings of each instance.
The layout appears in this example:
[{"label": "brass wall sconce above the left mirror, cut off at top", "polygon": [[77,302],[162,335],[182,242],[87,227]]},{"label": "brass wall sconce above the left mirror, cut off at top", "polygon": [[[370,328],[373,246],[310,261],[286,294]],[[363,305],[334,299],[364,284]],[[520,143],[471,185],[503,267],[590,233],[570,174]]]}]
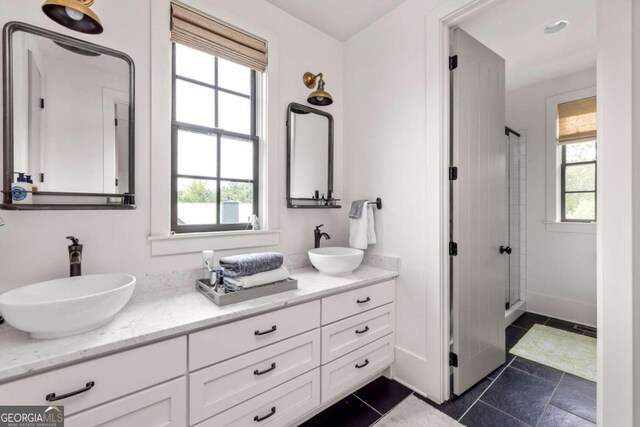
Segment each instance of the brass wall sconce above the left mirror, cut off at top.
[{"label": "brass wall sconce above the left mirror, cut off at top", "polygon": [[42,11],[58,24],[86,34],[100,34],[100,18],[89,7],[93,0],[46,0]]}]

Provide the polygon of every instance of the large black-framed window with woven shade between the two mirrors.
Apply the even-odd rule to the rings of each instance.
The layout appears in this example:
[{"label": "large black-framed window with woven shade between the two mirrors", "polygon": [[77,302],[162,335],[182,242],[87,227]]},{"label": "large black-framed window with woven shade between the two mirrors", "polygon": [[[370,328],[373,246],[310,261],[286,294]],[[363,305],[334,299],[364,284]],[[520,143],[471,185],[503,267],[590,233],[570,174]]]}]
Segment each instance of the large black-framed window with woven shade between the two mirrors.
[{"label": "large black-framed window with woven shade between the two mirrors", "polygon": [[256,86],[266,43],[177,3],[171,41],[171,229],[248,229],[258,213]]}]

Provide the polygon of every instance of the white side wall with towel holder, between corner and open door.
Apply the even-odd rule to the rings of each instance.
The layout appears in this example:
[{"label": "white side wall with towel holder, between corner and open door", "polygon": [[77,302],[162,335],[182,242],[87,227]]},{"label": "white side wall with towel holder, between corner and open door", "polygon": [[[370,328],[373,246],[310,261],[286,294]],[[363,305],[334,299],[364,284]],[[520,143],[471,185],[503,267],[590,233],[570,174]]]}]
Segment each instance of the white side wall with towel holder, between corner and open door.
[{"label": "white side wall with towel holder, between corner and open door", "polygon": [[[396,375],[440,399],[439,324],[428,313],[425,194],[425,15],[437,0],[407,0],[345,43],[345,168],[349,201],[382,197],[378,244],[399,256]],[[437,203],[437,202],[436,202]],[[436,260],[437,262],[437,260]]]}]

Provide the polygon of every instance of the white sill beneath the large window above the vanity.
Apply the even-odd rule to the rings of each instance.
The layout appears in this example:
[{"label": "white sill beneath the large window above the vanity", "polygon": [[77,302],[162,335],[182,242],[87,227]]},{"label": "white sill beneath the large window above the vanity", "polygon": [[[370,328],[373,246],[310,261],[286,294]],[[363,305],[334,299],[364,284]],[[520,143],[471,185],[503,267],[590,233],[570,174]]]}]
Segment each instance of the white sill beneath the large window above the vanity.
[{"label": "white sill beneath the large window above the vanity", "polygon": [[151,255],[177,255],[204,250],[225,250],[277,246],[280,230],[217,231],[209,233],[183,233],[156,235],[151,242]]}]

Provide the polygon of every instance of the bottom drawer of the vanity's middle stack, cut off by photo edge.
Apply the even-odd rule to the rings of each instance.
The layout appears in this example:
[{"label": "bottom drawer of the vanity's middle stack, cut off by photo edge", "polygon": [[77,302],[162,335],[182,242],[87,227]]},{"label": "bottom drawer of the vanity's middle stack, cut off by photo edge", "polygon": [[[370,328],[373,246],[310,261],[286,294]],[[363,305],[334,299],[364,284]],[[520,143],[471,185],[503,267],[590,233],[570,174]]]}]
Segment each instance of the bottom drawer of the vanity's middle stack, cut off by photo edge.
[{"label": "bottom drawer of the vanity's middle stack, cut off by photo edge", "polygon": [[198,424],[198,427],[286,426],[320,406],[319,368]]}]

